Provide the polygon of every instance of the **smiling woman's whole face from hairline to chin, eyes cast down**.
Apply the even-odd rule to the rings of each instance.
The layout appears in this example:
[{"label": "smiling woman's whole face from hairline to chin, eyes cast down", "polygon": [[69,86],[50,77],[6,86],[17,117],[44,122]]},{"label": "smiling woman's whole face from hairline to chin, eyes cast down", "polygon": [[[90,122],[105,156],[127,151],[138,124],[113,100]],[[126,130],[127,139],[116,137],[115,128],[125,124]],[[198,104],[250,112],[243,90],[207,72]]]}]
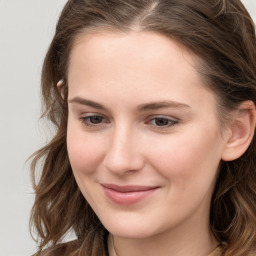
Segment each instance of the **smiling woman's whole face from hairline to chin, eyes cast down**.
[{"label": "smiling woman's whole face from hairline to chin, eyes cast down", "polygon": [[74,44],[68,153],[81,192],[114,235],[208,225],[225,140],[195,66],[195,56],[153,32],[92,33]]}]

